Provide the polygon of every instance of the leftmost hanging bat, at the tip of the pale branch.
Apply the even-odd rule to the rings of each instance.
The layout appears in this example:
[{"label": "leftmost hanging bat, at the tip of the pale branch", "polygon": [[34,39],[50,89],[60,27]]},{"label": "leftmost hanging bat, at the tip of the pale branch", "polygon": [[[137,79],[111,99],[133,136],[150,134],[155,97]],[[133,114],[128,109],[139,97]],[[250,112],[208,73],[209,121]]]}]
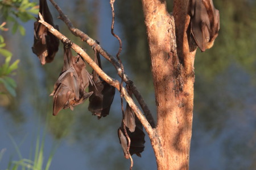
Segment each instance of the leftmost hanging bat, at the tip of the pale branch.
[{"label": "leftmost hanging bat, at the tip of the pale branch", "polygon": [[[58,26],[53,24],[52,15],[48,9],[46,0],[40,0],[39,2],[39,12],[42,14],[44,20],[59,30]],[[42,65],[50,63],[55,53],[59,49],[59,39],[57,39],[51,32],[48,31],[46,26],[37,21],[34,23],[34,45],[32,51],[39,57]]]}]

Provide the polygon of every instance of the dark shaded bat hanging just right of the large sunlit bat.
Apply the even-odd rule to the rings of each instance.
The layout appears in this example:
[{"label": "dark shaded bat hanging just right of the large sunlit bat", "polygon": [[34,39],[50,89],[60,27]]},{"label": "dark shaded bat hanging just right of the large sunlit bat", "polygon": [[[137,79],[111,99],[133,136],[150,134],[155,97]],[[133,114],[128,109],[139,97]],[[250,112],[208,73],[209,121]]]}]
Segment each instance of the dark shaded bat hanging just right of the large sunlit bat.
[{"label": "dark shaded bat hanging just right of the large sunlit bat", "polygon": [[[102,68],[100,54],[96,49],[94,49],[94,52],[94,62]],[[97,115],[98,119],[100,119],[109,114],[110,106],[112,105],[115,95],[115,88],[102,80],[95,71],[93,71],[92,74],[94,85],[89,85],[89,92],[93,92],[93,94],[89,98],[88,110],[91,111],[93,115]]]}]

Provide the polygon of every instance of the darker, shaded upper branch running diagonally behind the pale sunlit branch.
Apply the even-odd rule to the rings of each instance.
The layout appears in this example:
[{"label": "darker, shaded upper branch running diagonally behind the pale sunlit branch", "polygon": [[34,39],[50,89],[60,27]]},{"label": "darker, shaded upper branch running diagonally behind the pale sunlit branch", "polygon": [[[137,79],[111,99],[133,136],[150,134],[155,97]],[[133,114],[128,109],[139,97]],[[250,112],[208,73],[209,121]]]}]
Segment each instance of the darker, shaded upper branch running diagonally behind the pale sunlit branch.
[{"label": "darker, shaded upper branch running diagonally behind the pale sunlit branch", "polygon": [[[59,14],[60,14],[59,18],[61,20],[63,20],[63,22],[68,26],[68,28],[72,32],[72,34],[75,36],[79,36],[82,39],[82,41],[86,42],[88,45],[90,45],[90,46],[94,45],[96,51],[98,51],[102,56],[105,57],[105,59],[107,59],[110,63],[112,63],[114,65],[115,69],[117,69],[117,73],[118,73],[119,77],[122,77],[122,69],[121,69],[121,66],[118,63],[118,61],[113,56],[109,55],[109,53],[106,52],[105,49],[103,49],[99,44],[95,43],[95,40],[90,38],[88,35],[86,35],[81,30],[75,28],[73,26],[71,20],[69,20],[69,18],[63,13],[63,11],[60,9],[60,7],[56,4],[55,1],[53,1],[53,0],[49,0],[49,1],[51,1],[52,5],[59,12]],[[139,92],[139,90],[137,89],[137,87],[134,85],[134,82],[131,81],[130,78],[125,73],[123,74],[123,81],[125,81],[126,84],[129,84],[129,86],[131,87],[131,92],[133,92],[135,98],[139,102],[139,105],[141,106],[141,108],[145,114],[145,117],[147,118],[151,127],[155,128],[156,127],[155,121],[154,121],[154,118],[152,117],[150,109],[148,109],[148,106],[147,106],[146,102],[144,101],[144,98],[142,97],[142,95]]]}]

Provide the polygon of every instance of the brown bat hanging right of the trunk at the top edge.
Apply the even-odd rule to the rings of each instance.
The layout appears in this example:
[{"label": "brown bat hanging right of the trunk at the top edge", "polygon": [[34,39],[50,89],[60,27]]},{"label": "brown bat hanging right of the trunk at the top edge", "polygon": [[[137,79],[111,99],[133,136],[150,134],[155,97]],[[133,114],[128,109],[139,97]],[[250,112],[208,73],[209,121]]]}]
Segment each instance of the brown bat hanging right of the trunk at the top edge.
[{"label": "brown bat hanging right of the trunk at the top edge", "polygon": [[212,0],[191,0],[188,14],[191,16],[190,34],[201,51],[211,48],[220,30],[220,14]]}]

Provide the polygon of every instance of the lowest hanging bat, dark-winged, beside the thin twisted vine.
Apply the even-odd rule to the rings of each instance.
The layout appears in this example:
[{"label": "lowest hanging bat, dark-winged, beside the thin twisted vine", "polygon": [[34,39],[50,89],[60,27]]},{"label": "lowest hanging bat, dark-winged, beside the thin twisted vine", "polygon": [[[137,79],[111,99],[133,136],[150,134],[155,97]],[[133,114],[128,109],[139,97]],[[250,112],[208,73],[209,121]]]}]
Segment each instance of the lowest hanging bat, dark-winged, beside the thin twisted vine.
[{"label": "lowest hanging bat, dark-winged, beside the thin twisted vine", "polygon": [[[127,88],[127,91],[131,96],[131,92],[129,88]],[[141,122],[136,117],[136,115],[134,114],[133,110],[128,105],[128,103],[126,104],[124,121],[125,121],[127,134],[131,140],[129,152],[131,155],[136,154],[137,156],[141,157],[141,152],[144,151],[145,134],[143,132],[143,126]],[[119,137],[119,142],[121,143],[121,146],[123,148],[123,153],[125,154],[125,158],[129,159],[129,154],[127,152],[128,139],[126,138],[126,135],[125,135],[123,122],[121,127],[118,128],[118,137]]]}]

